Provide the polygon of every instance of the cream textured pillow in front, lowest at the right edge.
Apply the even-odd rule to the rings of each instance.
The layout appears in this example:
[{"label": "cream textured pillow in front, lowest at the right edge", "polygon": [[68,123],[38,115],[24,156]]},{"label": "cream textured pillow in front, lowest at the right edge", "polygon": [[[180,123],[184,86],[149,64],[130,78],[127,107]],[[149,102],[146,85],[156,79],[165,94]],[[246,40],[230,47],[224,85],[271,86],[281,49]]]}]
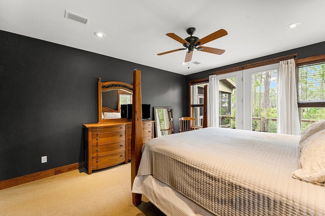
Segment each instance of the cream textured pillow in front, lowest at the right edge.
[{"label": "cream textured pillow in front, lowest at the right edge", "polygon": [[325,129],[310,136],[303,145],[300,158],[302,168],[293,172],[293,178],[324,185]]}]

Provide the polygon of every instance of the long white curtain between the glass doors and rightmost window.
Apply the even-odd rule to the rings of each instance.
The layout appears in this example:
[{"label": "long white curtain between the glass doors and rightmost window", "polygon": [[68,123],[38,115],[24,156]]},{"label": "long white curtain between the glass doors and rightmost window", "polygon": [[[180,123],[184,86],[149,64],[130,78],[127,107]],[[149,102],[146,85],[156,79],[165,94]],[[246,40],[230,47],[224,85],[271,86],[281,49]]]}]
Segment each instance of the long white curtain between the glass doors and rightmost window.
[{"label": "long white curtain between the glass doors and rightmost window", "polygon": [[278,134],[300,135],[296,88],[296,64],[294,59],[280,61],[277,83]]}]

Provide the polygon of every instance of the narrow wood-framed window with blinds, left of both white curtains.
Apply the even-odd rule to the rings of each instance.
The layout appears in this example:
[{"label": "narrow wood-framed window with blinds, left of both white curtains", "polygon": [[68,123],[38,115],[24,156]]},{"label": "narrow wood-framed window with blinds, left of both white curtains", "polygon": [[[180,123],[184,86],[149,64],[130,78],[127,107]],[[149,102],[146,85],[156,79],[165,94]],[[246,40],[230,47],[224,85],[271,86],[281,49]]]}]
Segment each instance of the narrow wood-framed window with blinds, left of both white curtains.
[{"label": "narrow wood-framed window with blinds, left of both white curtains", "polygon": [[203,126],[204,86],[208,80],[190,83],[190,116],[195,118],[195,126]]}]

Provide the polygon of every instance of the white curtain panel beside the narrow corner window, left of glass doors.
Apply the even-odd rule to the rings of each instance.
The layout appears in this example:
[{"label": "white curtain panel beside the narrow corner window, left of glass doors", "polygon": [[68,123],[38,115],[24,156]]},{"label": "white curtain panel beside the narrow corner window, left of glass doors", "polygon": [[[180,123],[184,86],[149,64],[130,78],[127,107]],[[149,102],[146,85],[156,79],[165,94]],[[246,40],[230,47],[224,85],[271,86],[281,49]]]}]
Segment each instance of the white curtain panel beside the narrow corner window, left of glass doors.
[{"label": "white curtain panel beside the narrow corner window, left of glass doors", "polygon": [[208,127],[218,126],[218,90],[217,90],[217,77],[216,75],[209,76],[208,86]]}]

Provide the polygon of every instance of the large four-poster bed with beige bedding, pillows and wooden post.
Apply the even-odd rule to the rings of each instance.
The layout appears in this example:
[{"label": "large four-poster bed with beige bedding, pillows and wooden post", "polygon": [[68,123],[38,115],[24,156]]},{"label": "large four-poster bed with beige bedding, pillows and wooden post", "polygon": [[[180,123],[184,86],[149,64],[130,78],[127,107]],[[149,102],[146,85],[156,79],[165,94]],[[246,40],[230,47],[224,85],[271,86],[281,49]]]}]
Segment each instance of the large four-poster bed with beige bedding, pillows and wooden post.
[{"label": "large four-poster bed with beige bedding, pillows and wooden post", "polygon": [[144,145],[133,128],[135,205],[144,194],[167,215],[325,214],[325,127],[302,137],[208,127]]}]

